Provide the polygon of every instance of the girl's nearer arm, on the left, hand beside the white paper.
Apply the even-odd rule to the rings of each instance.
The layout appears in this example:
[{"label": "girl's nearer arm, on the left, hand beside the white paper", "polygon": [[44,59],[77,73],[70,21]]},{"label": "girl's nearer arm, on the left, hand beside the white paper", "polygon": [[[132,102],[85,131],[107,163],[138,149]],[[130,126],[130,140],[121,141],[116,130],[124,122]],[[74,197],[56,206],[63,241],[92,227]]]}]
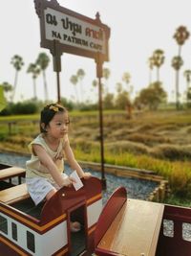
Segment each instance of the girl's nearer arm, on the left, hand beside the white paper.
[{"label": "girl's nearer arm, on the left, hand beside the white paper", "polygon": [[32,151],[34,155],[38,156],[39,161],[42,165],[44,165],[50,172],[50,174],[53,176],[53,180],[59,187],[63,186],[69,186],[72,184],[73,179],[69,177],[63,177],[57,170],[56,165],[53,163],[53,159],[51,156],[43,149],[42,146],[33,144],[32,145]]}]

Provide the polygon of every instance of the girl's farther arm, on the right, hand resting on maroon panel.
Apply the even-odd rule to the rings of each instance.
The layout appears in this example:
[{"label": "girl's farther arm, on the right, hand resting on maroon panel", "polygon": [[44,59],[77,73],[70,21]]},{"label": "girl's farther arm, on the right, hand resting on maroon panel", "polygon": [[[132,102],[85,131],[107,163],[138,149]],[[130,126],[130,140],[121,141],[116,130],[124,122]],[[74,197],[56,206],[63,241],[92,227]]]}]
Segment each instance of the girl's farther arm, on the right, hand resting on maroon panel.
[{"label": "girl's farther arm, on the right, hand resting on maroon panel", "polygon": [[79,177],[89,178],[91,176],[90,173],[84,173],[79,164],[77,163],[77,161],[75,160],[74,152],[71,149],[69,140],[65,142],[64,152],[71,168],[73,170],[76,170],[77,175],[79,175]]}]

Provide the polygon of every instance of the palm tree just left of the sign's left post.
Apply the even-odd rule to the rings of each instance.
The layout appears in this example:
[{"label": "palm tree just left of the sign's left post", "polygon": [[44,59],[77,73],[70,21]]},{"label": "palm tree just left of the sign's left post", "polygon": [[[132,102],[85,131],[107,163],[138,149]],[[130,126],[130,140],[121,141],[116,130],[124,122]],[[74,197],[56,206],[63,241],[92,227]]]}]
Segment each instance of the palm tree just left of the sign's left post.
[{"label": "palm tree just left of the sign's left post", "polygon": [[47,79],[46,79],[46,72],[48,65],[50,62],[50,58],[46,53],[40,53],[38,55],[38,58],[36,59],[36,64],[39,65],[42,75],[43,75],[43,81],[44,81],[44,90],[45,90],[45,101],[48,101],[49,95],[48,95],[48,88],[47,88]]}]

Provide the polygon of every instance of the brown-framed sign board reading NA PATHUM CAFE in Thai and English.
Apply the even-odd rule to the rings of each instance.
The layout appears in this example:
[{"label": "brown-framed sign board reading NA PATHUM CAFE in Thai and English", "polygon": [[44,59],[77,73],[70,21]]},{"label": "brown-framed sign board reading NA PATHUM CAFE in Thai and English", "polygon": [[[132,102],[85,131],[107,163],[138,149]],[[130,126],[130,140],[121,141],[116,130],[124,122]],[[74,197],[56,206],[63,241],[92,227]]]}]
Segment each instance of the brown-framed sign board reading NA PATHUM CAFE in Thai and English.
[{"label": "brown-framed sign board reading NA PATHUM CAFE in Thai and English", "polygon": [[[53,55],[69,53],[88,58],[99,54],[102,61],[109,60],[108,40],[110,28],[96,19],[60,7],[56,0],[34,0],[40,18],[41,47]],[[55,50],[56,45],[56,50]]]}]

